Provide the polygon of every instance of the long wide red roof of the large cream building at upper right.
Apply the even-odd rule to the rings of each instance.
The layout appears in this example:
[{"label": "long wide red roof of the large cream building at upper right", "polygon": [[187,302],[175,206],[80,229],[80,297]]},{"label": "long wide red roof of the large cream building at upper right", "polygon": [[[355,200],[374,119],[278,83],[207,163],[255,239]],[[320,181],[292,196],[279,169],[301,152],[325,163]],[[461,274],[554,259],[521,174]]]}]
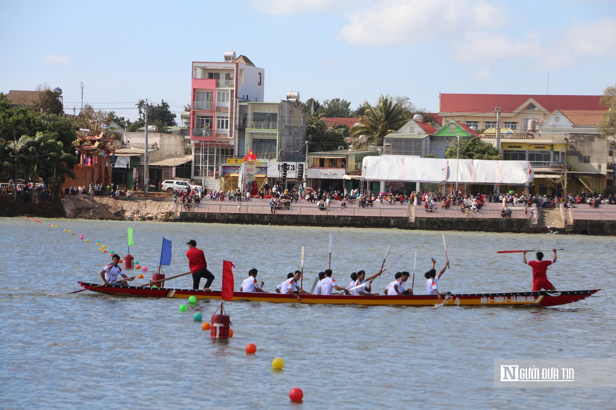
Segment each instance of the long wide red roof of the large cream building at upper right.
[{"label": "long wide red roof of the large cream building at upper right", "polygon": [[[492,112],[496,104],[503,112],[513,112],[530,98],[548,112],[556,109],[602,111],[601,95],[523,95],[523,94],[441,94],[439,114],[445,112]],[[525,107],[522,107],[524,109]]]}]

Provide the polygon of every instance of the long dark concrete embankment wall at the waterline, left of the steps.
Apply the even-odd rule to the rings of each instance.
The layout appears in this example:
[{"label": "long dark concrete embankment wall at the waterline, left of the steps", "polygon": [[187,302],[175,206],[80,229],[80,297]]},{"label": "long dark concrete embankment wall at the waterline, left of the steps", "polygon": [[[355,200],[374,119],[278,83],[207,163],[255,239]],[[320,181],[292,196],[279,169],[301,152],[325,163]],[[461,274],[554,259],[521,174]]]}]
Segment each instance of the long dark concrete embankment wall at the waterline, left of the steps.
[{"label": "long dark concrete embankment wall at the waterline, left of the steps", "polygon": [[541,233],[542,229],[530,224],[530,219],[516,218],[409,218],[387,216],[337,216],[337,215],[285,215],[180,212],[181,221],[295,225],[295,226],[344,226],[399,229],[432,229],[444,231],[529,232]]}]

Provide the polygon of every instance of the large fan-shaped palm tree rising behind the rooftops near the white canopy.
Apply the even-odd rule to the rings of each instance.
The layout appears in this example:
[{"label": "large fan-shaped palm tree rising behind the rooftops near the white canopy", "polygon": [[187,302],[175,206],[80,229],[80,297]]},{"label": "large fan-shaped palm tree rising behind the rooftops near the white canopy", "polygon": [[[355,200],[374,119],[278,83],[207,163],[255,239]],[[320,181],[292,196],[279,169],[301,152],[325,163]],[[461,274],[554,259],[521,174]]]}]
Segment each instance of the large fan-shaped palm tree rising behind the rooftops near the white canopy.
[{"label": "large fan-shaped palm tree rising behind the rooftops near the white canopy", "polygon": [[408,121],[402,104],[395,102],[389,94],[381,94],[375,106],[363,101],[363,108],[365,111],[359,117],[359,124],[351,127],[349,135],[365,135],[368,142],[376,146],[382,146],[384,136],[395,132]]}]

